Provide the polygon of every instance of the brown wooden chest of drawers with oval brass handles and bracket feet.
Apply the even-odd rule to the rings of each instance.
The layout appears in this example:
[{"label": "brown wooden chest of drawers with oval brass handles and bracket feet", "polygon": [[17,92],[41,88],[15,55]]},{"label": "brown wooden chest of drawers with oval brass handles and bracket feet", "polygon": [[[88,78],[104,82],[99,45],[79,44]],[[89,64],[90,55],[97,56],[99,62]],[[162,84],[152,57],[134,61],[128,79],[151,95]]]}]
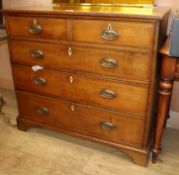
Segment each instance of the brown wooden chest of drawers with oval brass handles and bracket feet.
[{"label": "brown wooden chest of drawers with oval brass handles and bracket feet", "polygon": [[168,11],[68,8],[4,10],[18,127],[115,146],[146,165]]}]

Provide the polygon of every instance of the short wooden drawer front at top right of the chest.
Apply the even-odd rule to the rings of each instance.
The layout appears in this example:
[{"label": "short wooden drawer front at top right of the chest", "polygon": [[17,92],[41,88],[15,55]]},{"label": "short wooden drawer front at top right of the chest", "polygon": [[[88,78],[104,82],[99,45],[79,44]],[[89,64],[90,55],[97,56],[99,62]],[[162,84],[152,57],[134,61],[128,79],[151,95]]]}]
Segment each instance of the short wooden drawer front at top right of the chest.
[{"label": "short wooden drawer front at top right of the chest", "polygon": [[153,46],[153,23],[76,19],[72,27],[74,41],[142,48]]}]

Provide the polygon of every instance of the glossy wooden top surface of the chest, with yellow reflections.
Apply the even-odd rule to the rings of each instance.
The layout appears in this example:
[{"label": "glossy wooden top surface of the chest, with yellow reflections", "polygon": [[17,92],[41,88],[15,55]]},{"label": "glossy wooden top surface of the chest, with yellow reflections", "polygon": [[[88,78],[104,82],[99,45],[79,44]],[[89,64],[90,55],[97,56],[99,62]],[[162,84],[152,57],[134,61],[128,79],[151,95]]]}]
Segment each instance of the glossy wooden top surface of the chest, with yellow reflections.
[{"label": "glossy wooden top surface of the chest, with yellow reflections", "polygon": [[169,8],[134,8],[134,7],[119,7],[119,6],[28,6],[28,7],[15,7],[3,9],[3,13],[14,14],[45,14],[45,15],[69,15],[69,16],[100,16],[100,17],[125,17],[133,19],[162,19],[167,15]]}]

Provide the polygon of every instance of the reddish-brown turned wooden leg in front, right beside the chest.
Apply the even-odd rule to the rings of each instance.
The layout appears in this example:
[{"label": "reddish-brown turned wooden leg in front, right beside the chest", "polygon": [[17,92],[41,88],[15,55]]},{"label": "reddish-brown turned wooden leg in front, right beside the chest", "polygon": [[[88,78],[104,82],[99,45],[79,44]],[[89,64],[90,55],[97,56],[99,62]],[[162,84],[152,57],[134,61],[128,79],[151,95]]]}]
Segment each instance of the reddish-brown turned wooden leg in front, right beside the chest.
[{"label": "reddish-brown turned wooden leg in front, right beside the chest", "polygon": [[176,59],[163,55],[161,67],[161,79],[158,90],[158,108],[154,133],[152,162],[156,163],[157,156],[161,150],[161,141],[166,120],[168,118],[170,99],[173,88]]}]

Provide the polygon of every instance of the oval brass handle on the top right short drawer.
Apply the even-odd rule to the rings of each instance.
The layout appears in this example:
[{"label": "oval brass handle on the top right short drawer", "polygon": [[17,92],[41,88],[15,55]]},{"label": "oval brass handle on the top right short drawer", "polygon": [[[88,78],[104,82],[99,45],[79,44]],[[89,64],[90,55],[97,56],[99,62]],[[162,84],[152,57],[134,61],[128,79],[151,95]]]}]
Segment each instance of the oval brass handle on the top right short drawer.
[{"label": "oval brass handle on the top right short drawer", "polygon": [[112,29],[111,24],[108,25],[107,29],[102,31],[101,37],[105,40],[116,40],[119,37],[118,32]]}]

